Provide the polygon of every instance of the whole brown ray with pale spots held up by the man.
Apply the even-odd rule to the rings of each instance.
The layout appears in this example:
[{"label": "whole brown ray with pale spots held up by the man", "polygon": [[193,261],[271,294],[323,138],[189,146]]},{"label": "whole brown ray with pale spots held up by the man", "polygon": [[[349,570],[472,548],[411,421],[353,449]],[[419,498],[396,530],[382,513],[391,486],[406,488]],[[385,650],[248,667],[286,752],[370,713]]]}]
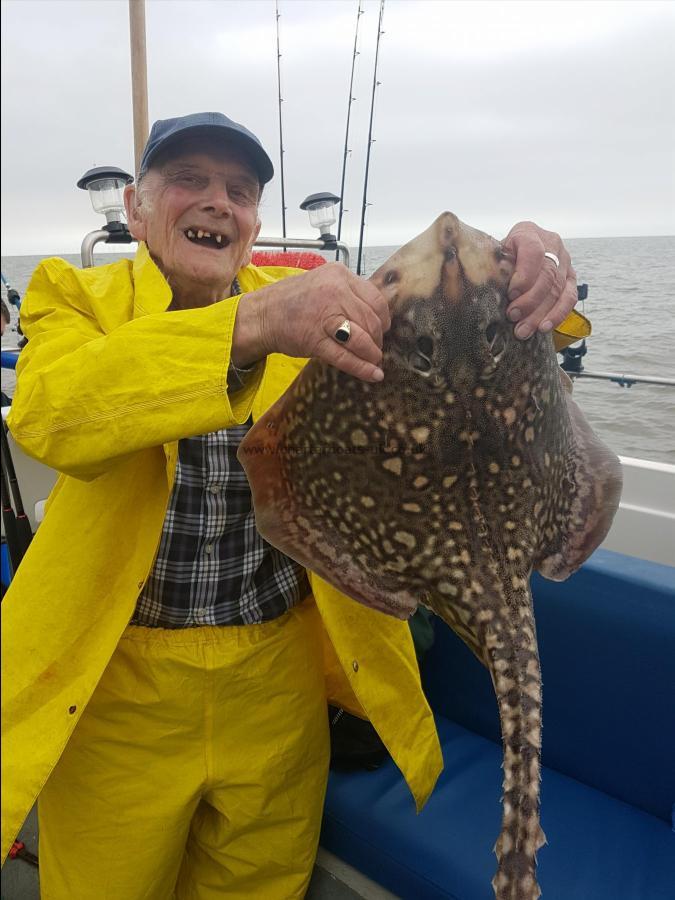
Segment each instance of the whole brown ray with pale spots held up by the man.
[{"label": "whole brown ray with pale spots held up by the man", "polygon": [[349,596],[441,616],[490,671],[504,751],[498,900],[535,900],[541,674],[529,576],[571,574],[619,502],[618,459],[550,335],[507,322],[513,262],[443,213],[372,277],[385,379],[312,361],[239,451],[263,536]]}]

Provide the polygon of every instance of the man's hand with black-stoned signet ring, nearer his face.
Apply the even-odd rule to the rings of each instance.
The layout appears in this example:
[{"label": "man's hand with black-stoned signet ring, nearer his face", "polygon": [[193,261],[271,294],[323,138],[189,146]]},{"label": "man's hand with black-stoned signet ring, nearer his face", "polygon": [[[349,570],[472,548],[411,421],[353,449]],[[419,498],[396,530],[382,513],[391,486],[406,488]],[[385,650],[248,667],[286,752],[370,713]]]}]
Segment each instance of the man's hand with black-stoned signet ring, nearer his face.
[{"label": "man's hand with black-stoned signet ring, nearer his face", "polygon": [[[349,340],[335,332],[349,320]],[[327,263],[242,297],[232,336],[232,362],[243,367],[269,353],[318,357],[364,381],[384,378],[382,337],[389,307],[371,282],[342,263]]]}]

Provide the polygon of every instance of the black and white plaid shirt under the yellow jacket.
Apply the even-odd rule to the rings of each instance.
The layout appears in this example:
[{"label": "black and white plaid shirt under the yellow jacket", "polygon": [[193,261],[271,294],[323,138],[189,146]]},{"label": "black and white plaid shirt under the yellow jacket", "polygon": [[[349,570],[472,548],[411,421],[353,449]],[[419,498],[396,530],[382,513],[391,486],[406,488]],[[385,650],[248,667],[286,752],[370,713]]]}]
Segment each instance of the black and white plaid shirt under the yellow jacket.
[{"label": "black and white plaid shirt under the yellow jacket", "polygon": [[[230,389],[242,375],[230,367]],[[237,459],[250,427],[249,420],[178,442],[176,481],[159,549],[132,625],[267,622],[309,593],[303,567],[256,531],[251,489]]]}]

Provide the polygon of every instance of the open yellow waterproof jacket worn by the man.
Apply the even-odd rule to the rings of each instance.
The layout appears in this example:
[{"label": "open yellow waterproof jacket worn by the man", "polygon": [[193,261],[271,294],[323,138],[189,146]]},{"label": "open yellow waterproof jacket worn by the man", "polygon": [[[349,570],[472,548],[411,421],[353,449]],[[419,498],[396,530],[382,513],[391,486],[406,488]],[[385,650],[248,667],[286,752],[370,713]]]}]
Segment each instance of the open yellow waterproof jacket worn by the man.
[{"label": "open yellow waterproof jacket worn by the man", "polygon": [[[246,293],[297,272],[248,266],[239,282]],[[96,269],[44,261],[22,306],[9,426],[63,474],[2,604],[3,860],[152,569],[178,440],[258,418],[306,362],[273,354],[229,397],[239,297],[167,313],[170,301],[141,245]],[[419,809],[443,763],[407,623],[309,577],[327,695],[371,720]]]}]

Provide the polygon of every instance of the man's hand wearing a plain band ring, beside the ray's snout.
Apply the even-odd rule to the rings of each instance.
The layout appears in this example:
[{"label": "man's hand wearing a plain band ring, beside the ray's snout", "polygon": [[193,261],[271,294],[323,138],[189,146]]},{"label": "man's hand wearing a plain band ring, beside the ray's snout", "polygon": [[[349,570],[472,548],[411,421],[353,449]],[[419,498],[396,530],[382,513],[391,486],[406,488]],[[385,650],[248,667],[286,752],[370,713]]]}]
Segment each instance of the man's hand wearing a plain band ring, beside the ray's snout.
[{"label": "man's hand wearing a plain band ring, beside the ray's snout", "polygon": [[[511,304],[507,315],[517,322],[516,337],[526,339],[535,331],[552,331],[577,302],[577,276],[560,235],[544,231],[534,222],[518,222],[503,241],[516,257],[509,284]],[[544,256],[554,253],[560,268]]]}]

